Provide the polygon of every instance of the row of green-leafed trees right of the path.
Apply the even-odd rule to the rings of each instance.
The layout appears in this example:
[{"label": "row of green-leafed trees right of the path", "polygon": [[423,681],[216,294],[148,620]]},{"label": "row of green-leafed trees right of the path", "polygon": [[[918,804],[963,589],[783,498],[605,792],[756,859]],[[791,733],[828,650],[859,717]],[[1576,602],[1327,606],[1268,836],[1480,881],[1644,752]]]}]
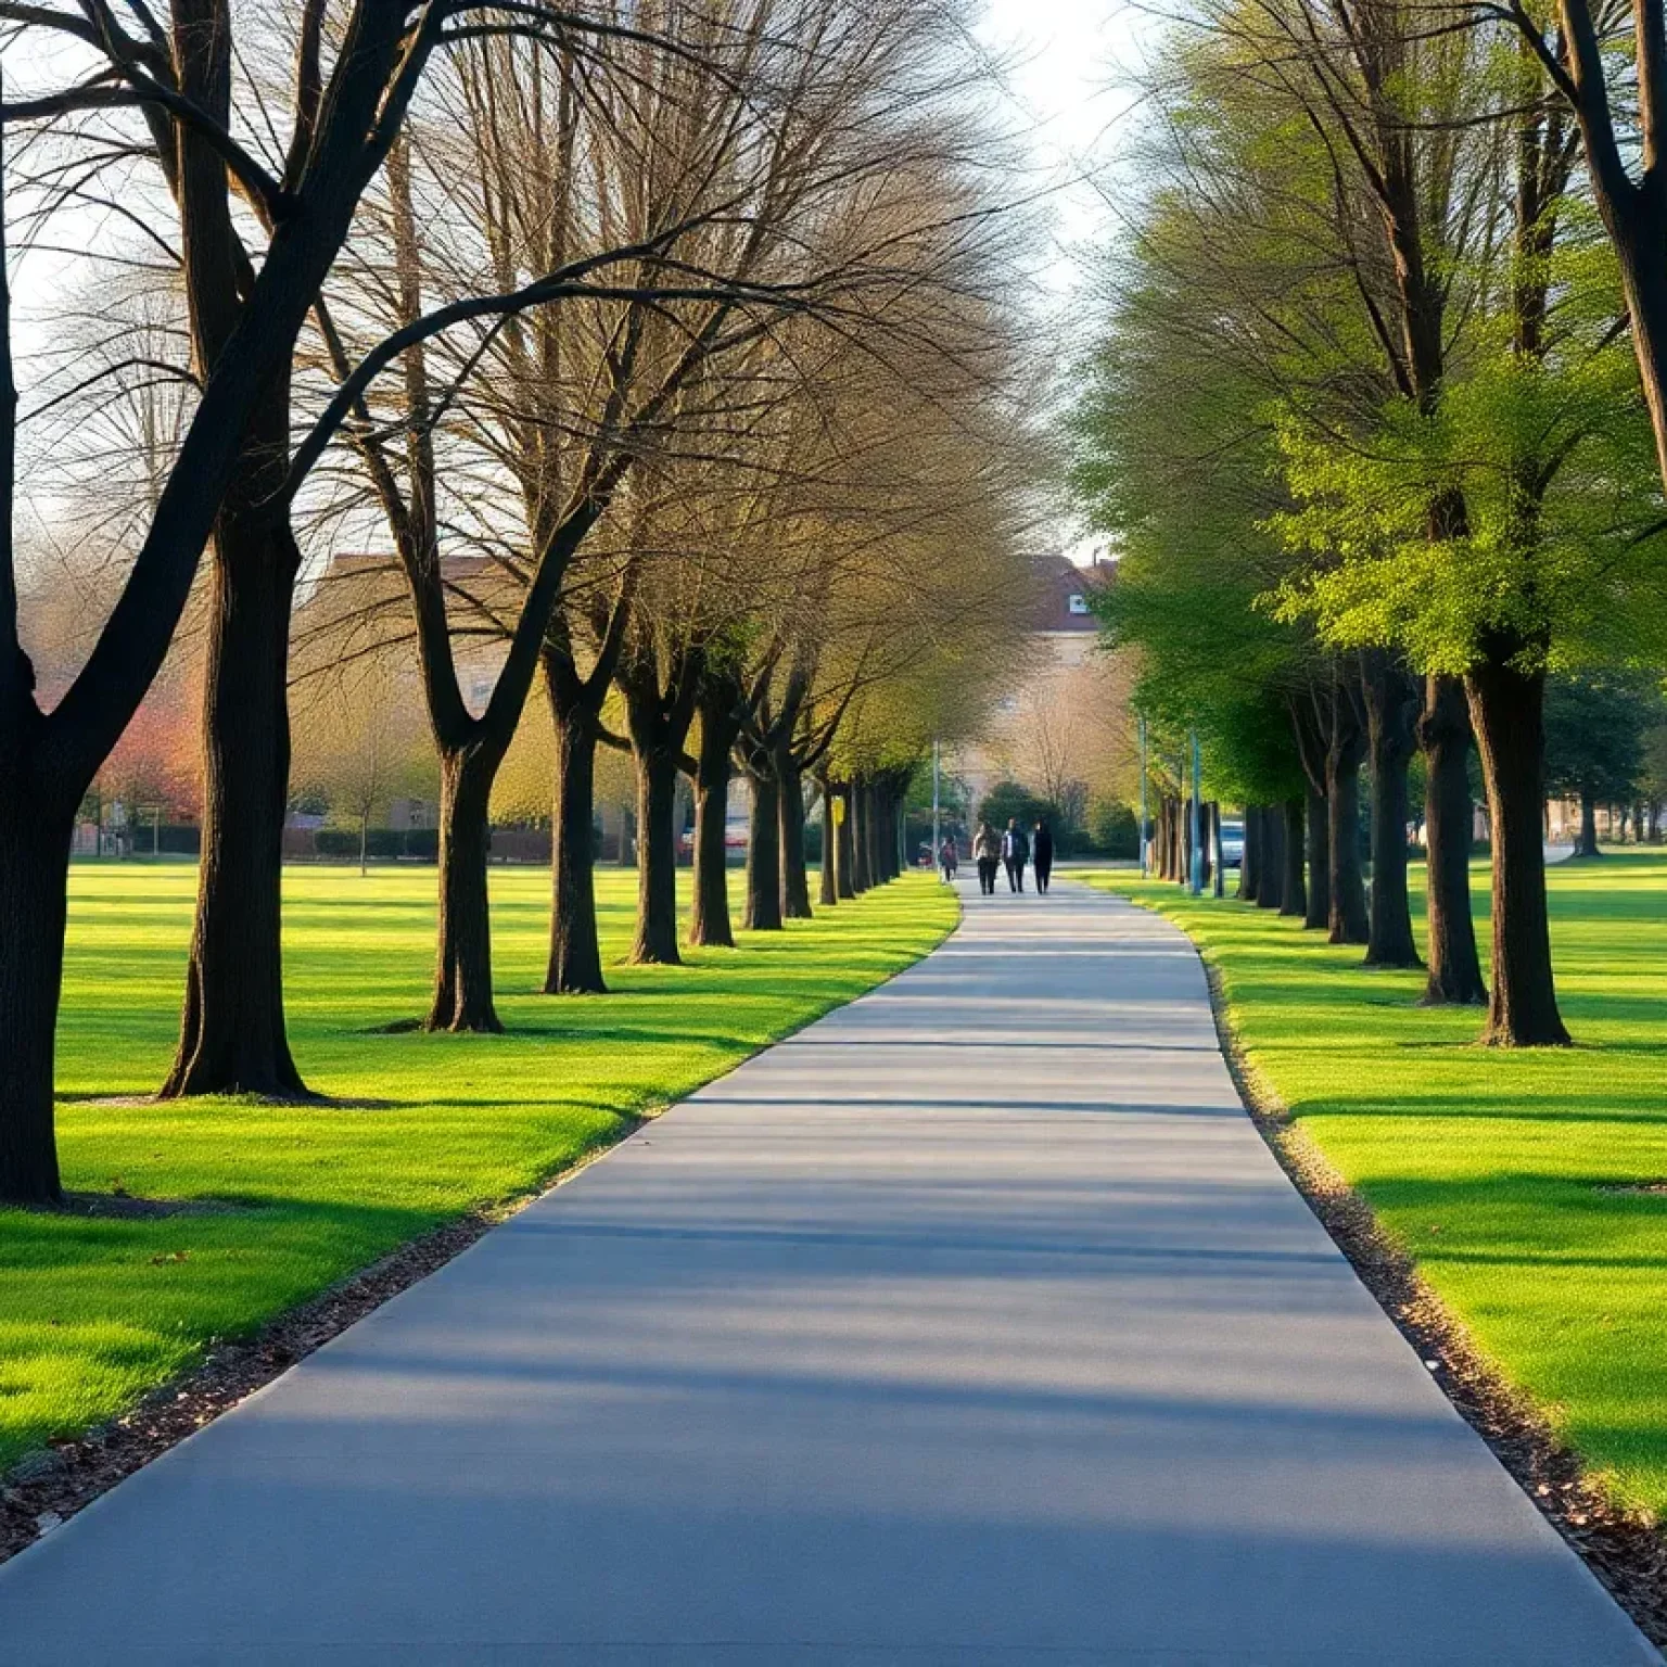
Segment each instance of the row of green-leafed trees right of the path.
[{"label": "row of green-leafed trees right of the path", "polygon": [[1307,922],[1370,965],[1427,967],[1429,1002],[1485,1000],[1495,1045],[1569,1040],[1544,882],[1547,677],[1657,668],[1667,627],[1667,85],[1660,5],[1632,15],[1637,107],[1602,70],[1627,57],[1625,20],[1584,0],[1549,17],[1209,0],[1150,88],[1152,188],[1074,415],[1080,498],[1125,550],[1105,617],[1137,652],[1160,752],[1197,728],[1212,797],[1250,805],[1252,830],[1282,807],[1262,844],[1292,854],[1280,874]]}]

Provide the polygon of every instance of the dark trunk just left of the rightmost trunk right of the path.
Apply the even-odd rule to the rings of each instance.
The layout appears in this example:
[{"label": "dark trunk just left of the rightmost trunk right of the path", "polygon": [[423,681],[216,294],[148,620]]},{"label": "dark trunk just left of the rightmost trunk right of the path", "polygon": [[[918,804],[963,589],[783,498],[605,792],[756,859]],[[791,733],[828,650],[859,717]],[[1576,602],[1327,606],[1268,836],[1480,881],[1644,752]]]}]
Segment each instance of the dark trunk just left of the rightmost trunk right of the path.
[{"label": "dark trunk just left of the rightmost trunk right of the path", "polygon": [[1470,919],[1470,707],[1455,677],[1430,677],[1419,718],[1424,748],[1429,1007],[1487,1000]]}]

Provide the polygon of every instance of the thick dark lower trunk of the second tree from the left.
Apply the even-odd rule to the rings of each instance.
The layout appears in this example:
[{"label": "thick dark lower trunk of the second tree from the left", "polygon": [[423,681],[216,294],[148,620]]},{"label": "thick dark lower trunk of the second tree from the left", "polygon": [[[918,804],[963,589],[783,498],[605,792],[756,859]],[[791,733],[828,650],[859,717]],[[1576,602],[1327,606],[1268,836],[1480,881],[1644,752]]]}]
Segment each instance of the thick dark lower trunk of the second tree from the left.
[{"label": "thick dark lower trunk of the second tree from the left", "polygon": [[305,1099],[283,1022],[293,545],[258,512],[228,512],[212,575],[197,920],[160,1092]]}]

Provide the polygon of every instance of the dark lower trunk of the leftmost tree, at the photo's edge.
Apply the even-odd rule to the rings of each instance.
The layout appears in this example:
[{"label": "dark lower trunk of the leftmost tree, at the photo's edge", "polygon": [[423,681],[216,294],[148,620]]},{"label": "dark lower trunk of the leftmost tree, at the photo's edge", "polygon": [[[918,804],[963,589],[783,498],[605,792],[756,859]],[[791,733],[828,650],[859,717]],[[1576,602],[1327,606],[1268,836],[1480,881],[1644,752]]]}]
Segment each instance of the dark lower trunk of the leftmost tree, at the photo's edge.
[{"label": "dark lower trunk of the leftmost tree, at the photo's edge", "polygon": [[0,795],[0,1204],[57,1204],[53,1049],[73,815],[7,780]]}]

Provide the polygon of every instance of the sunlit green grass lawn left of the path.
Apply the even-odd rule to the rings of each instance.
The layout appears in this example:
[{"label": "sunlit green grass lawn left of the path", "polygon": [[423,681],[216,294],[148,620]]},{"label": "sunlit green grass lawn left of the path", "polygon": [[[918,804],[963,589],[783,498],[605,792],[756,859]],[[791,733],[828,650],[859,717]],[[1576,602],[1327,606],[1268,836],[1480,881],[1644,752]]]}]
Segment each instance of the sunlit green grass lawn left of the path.
[{"label": "sunlit green grass lawn left of the path", "polygon": [[[598,872],[603,954],[635,875]],[[683,969],[615,969],[617,994],[540,997],[548,877],[492,875],[502,1037],[378,1035],[420,1017],[433,870],[292,869],[288,1014],[310,1085],[340,1105],[157,1105],[172,1057],[195,869],[82,865],[58,1030],[63,1184],[227,1200],[108,1220],[0,1210],[0,1469],[75,1434],[348,1272],[473,1207],[525,1194],[645,1112],[860,995],[955,924],[909,877],[743,934]],[[130,1104],[120,1104],[128,1100]],[[112,1104],[117,1102],[117,1104]]]}]

